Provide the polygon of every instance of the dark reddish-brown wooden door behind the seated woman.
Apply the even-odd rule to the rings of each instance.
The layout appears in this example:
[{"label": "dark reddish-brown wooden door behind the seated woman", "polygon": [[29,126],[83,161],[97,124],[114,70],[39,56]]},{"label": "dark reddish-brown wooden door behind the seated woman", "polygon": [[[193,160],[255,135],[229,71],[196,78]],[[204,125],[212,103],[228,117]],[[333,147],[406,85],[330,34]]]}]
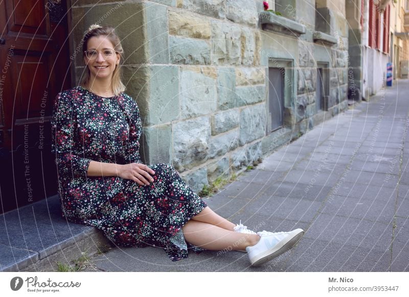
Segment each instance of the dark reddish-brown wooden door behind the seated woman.
[{"label": "dark reddish-brown wooden door behind the seated woman", "polygon": [[57,193],[50,118],[55,95],[71,86],[66,8],[0,1],[0,212]]}]

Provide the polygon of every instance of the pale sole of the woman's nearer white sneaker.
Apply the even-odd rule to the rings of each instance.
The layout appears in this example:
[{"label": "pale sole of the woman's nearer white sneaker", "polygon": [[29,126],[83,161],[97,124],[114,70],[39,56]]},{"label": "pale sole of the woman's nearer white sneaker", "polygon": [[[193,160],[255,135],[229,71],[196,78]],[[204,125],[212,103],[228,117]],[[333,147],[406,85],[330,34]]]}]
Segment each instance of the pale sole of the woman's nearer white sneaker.
[{"label": "pale sole of the woman's nearer white sneaker", "polygon": [[274,259],[281,254],[287,252],[290,250],[294,245],[297,244],[297,242],[300,241],[301,237],[303,237],[304,231],[302,229],[296,229],[286,238],[284,238],[282,241],[280,241],[277,245],[275,245],[272,249],[265,251],[264,253],[258,255],[256,257],[256,261],[252,263],[252,266],[257,267],[260,266],[261,264],[270,261],[271,259]]}]

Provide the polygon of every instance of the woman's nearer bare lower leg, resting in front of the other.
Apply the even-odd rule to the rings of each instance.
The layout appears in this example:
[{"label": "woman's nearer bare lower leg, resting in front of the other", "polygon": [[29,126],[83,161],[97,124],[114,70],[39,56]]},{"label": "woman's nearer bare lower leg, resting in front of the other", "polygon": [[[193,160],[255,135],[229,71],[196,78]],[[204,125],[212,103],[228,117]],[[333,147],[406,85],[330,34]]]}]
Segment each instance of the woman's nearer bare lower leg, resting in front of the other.
[{"label": "woman's nearer bare lower leg, resting in front of the other", "polygon": [[206,222],[190,220],[182,227],[186,241],[211,251],[245,250],[255,245],[260,236],[225,230]]}]

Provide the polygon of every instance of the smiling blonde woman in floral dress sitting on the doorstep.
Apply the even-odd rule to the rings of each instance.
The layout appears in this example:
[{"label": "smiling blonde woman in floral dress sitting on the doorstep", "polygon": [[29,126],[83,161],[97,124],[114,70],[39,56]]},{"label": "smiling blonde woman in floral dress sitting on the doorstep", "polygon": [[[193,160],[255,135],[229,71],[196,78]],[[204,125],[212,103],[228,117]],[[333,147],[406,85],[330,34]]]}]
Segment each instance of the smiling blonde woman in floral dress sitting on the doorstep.
[{"label": "smiling blonde woman in floral dress sitting on the doorstep", "polygon": [[292,248],[304,231],[254,232],[213,212],[169,163],[139,155],[138,104],[121,82],[123,49],[112,27],[83,38],[81,86],[59,93],[52,118],[62,216],[118,246],[163,248],[172,261],[203,250],[248,253],[253,266]]}]

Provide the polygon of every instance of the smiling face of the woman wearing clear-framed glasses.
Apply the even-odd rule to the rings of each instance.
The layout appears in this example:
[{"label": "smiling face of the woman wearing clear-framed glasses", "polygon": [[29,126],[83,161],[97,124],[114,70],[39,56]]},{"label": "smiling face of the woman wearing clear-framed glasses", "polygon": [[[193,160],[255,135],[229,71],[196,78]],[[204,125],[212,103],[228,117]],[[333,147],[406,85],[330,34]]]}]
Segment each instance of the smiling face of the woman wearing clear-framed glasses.
[{"label": "smiling face of the woman wearing clear-framed glasses", "polygon": [[104,57],[106,54],[109,54],[110,51],[114,51],[113,44],[107,36],[94,36],[89,38],[87,51],[95,51],[94,57],[84,57],[91,79],[111,79],[113,70],[115,70],[115,67],[119,64],[120,55],[113,52],[110,57]]}]

